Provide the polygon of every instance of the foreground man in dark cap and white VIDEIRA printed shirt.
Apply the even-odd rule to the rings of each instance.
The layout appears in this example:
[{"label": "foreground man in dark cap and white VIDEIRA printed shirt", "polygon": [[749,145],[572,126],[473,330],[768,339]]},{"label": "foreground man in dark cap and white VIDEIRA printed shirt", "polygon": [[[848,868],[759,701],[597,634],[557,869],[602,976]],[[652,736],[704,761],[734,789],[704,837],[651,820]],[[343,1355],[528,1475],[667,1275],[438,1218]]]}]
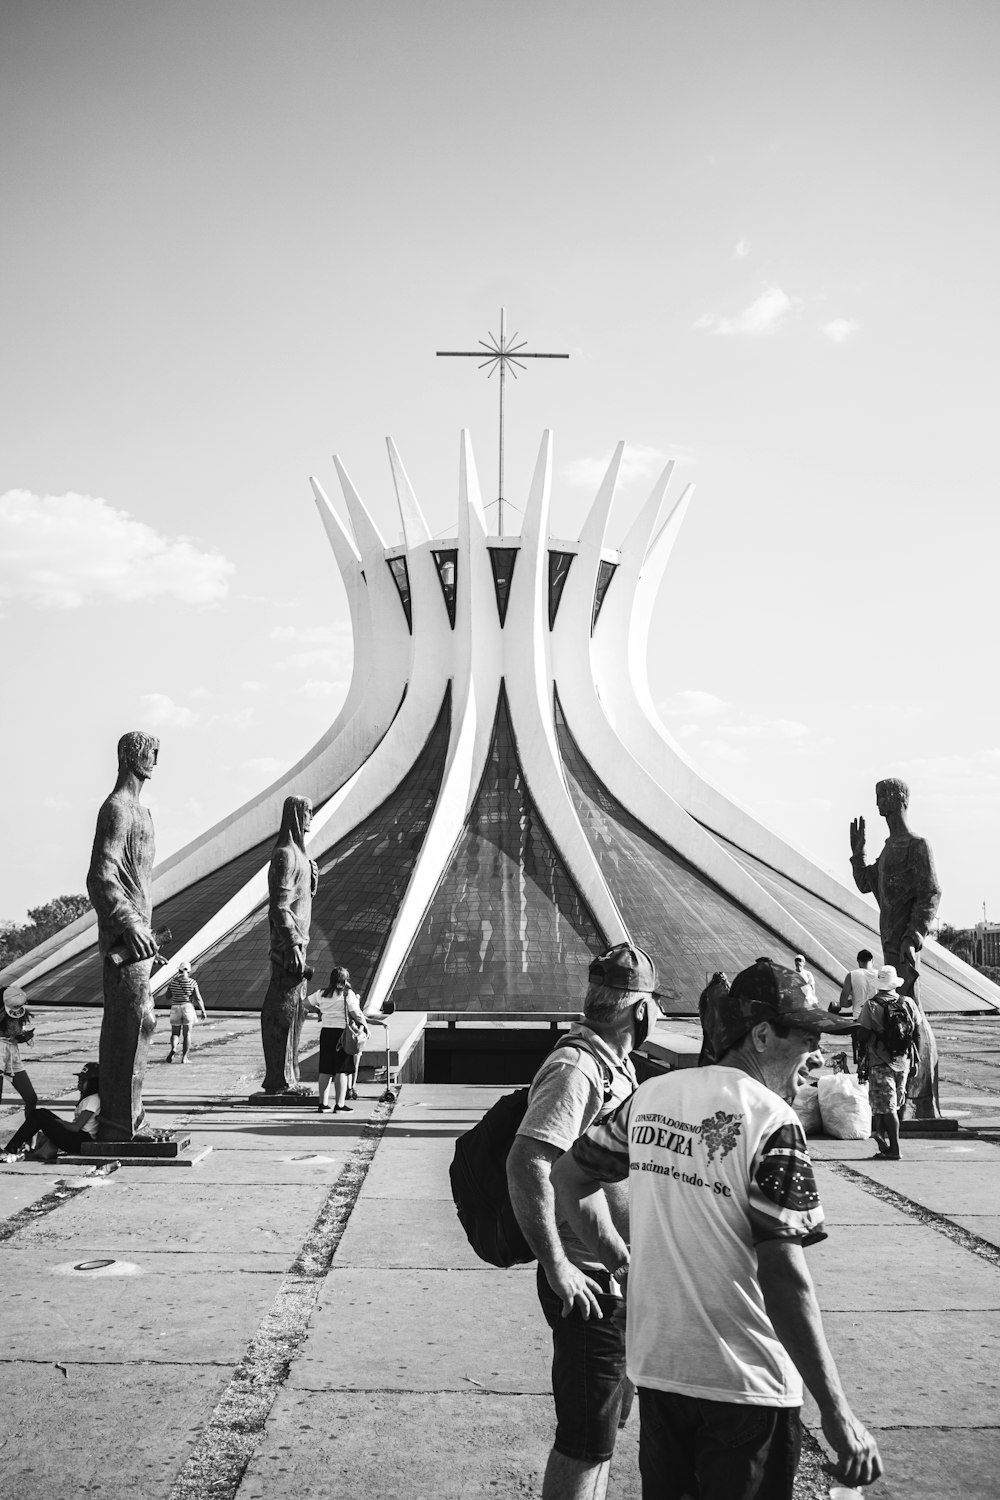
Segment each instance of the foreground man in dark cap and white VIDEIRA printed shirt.
[{"label": "foreground man in dark cap and white VIDEIRA printed shirt", "polygon": [[[789,1100],[847,1018],[756,963],[714,1010],[706,1068],[649,1078],[553,1167],[558,1209],[612,1275],[628,1269],[643,1500],[792,1500],[802,1384],[846,1484],[882,1473],[826,1344],[804,1248],[825,1238]],[[600,1188],[628,1179],[630,1246]]]}]

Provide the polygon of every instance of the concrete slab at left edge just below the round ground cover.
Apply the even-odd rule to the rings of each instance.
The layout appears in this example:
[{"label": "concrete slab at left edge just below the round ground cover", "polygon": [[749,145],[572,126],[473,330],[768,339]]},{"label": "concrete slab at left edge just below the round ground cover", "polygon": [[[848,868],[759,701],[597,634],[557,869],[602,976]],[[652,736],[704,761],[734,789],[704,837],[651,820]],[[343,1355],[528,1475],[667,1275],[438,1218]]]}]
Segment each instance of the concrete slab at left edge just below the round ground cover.
[{"label": "concrete slab at left edge just below the round ground cover", "polygon": [[[82,1263],[91,1257],[69,1257]],[[66,1275],[63,1248],[22,1258],[4,1282],[4,1359],[66,1364],[235,1364],[274,1300],[271,1275],[196,1275],[130,1257],[139,1275]]]}]

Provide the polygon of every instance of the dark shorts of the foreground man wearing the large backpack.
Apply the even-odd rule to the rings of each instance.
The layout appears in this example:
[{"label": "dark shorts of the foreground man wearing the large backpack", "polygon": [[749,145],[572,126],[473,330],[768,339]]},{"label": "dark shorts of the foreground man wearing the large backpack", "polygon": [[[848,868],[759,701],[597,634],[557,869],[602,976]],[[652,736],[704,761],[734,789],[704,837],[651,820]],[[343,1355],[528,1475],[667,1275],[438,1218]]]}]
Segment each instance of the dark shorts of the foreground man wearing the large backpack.
[{"label": "dark shorts of the foreground man wearing the large backpack", "polygon": [[562,1317],[562,1300],[541,1266],[537,1284],[552,1329],[553,1448],[565,1458],[604,1464],[615,1452],[618,1428],[624,1426],[636,1394],[625,1374],[625,1299],[601,1296],[603,1318],[585,1318],[576,1308]]}]

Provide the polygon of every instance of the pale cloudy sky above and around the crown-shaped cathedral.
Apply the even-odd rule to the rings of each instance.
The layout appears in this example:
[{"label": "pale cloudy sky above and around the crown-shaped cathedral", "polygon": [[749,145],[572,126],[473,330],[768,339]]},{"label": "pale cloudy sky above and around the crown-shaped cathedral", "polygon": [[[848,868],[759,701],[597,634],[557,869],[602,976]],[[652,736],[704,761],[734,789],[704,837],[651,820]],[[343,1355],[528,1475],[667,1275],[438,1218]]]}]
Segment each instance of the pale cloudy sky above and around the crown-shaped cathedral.
[{"label": "pale cloudy sky above and around the crown-shaped cathedral", "polygon": [[[1000,10],[966,0],[0,3],[0,920],[79,891],[124,729],[160,856],[351,672],[310,496],[384,438],[454,532],[555,434],[576,536],[667,458],[652,630],[694,762],[850,879],[903,776],[940,915],[1000,920]],[[516,516],[516,512],[511,512]],[[508,518],[510,519],[510,518]],[[612,536],[615,540],[615,536]]]}]

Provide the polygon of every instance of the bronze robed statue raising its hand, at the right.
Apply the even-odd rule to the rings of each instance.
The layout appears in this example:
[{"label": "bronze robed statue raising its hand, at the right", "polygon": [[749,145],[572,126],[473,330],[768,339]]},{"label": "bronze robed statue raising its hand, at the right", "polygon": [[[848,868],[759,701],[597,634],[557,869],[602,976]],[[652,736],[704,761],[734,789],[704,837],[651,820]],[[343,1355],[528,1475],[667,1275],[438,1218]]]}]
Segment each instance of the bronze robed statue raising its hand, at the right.
[{"label": "bronze robed statue raising its hand, at the right", "polygon": [[[876,804],[889,825],[889,837],[874,864],[865,864],[865,819],[850,825],[850,867],[859,891],[870,891],[879,902],[883,963],[892,964],[909,994],[921,1006],[921,950],[937,914],[942,888],[927,838],[910,832],[906,810],[910,788],[898,777],[876,783]],[[919,1032],[918,1064],[910,1083],[906,1119],[940,1119],[937,1098],[937,1041],[924,1018]]]}]

